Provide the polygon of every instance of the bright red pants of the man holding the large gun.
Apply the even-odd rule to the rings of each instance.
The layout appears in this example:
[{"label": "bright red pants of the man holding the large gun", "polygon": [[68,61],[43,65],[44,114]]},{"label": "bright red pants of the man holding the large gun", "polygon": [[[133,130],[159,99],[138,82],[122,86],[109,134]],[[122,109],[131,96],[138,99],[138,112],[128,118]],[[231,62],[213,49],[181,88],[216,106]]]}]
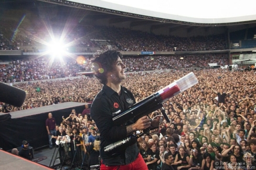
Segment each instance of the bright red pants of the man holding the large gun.
[{"label": "bright red pants of the man holding the large gun", "polygon": [[135,161],[128,165],[118,165],[118,166],[106,166],[101,164],[101,170],[147,170],[147,165],[143,160],[141,154],[138,154],[138,157]]}]

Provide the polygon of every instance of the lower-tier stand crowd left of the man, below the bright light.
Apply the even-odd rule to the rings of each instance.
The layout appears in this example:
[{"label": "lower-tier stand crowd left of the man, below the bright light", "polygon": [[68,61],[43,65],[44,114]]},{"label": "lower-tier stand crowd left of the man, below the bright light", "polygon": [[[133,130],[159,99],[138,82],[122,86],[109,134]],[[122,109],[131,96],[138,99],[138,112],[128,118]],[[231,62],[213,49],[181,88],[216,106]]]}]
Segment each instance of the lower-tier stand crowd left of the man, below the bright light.
[{"label": "lower-tier stand crowd left of the man, below the bright light", "polygon": [[77,64],[76,60],[49,62],[47,59],[15,60],[0,64],[0,82],[25,82],[77,76],[88,69],[88,64]]}]

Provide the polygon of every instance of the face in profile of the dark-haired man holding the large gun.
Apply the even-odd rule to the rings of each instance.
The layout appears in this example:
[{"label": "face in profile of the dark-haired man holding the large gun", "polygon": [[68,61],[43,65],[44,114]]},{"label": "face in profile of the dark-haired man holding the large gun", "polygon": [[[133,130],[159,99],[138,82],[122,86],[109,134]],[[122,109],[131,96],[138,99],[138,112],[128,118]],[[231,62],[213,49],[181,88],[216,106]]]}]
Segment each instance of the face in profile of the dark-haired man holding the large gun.
[{"label": "face in profile of the dark-haired man holding the large gun", "polygon": [[120,82],[125,80],[126,76],[124,74],[125,65],[122,63],[120,57],[112,65],[112,71],[109,72],[108,78],[111,78],[113,82]]}]

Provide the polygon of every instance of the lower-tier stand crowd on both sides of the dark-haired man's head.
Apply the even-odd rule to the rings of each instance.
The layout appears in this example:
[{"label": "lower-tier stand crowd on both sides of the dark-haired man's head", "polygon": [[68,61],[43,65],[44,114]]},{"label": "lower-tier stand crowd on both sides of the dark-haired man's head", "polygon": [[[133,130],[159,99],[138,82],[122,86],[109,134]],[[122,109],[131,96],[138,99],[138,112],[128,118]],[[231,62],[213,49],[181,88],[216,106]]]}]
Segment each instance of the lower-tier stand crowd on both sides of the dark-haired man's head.
[{"label": "lower-tier stand crowd on both sides of the dark-haired man's head", "polygon": [[[208,63],[228,64],[226,54],[199,54],[183,56],[127,56],[123,62],[126,72],[141,72],[166,69],[185,69],[190,67],[209,67]],[[49,62],[46,58],[34,60],[15,60],[0,64],[0,82],[26,82],[79,76],[79,72],[91,70],[91,59],[78,64],[76,60]]]}]

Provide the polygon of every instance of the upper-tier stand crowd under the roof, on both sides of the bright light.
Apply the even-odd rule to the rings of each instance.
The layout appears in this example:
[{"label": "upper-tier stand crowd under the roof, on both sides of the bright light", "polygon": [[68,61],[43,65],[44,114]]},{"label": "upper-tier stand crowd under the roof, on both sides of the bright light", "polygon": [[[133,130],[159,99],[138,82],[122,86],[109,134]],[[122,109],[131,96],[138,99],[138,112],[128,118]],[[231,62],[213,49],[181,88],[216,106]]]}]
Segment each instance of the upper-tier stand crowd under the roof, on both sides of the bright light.
[{"label": "upper-tier stand crowd under the roof, on both sides of the bright light", "polygon": [[[61,26],[52,26],[52,32],[56,35],[55,39],[62,36]],[[2,28],[3,29],[3,28]],[[0,28],[1,30],[1,28]],[[224,35],[198,36],[198,37],[175,37],[159,36],[153,33],[136,31],[126,28],[103,27],[103,26],[77,26],[69,30],[70,33],[63,40],[69,43],[70,48],[93,47],[102,49],[105,46],[101,41],[108,40],[112,49],[118,51],[207,51],[207,50],[226,50],[227,42]],[[7,33],[8,35],[9,33]],[[8,38],[0,35],[0,50],[23,50],[23,46],[33,47],[33,52],[41,51],[40,46],[52,41],[51,33],[42,26],[37,29],[20,28],[12,42]],[[11,43],[7,46],[4,42]]]}]

